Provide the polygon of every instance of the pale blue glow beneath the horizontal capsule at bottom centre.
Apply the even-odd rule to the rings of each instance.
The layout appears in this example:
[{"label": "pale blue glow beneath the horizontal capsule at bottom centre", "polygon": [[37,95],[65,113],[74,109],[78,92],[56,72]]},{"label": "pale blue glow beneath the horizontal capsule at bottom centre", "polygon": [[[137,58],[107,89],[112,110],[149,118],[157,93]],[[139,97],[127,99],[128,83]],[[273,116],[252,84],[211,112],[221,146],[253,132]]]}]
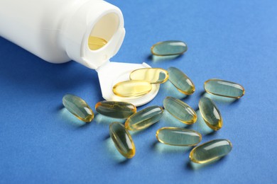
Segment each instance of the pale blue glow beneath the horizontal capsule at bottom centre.
[{"label": "pale blue glow beneath the horizontal capsule at bottom centre", "polygon": [[153,143],[152,148],[160,154],[175,154],[188,152],[192,149],[192,146],[171,146],[156,141]]}]

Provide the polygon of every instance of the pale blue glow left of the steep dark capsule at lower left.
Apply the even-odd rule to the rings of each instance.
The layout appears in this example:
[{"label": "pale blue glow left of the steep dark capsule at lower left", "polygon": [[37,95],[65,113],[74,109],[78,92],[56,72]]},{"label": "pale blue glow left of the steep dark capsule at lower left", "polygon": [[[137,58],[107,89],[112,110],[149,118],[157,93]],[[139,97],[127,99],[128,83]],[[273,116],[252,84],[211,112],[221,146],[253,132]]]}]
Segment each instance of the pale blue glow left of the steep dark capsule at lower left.
[{"label": "pale blue glow left of the steep dark capsule at lower left", "polygon": [[112,141],[111,137],[107,138],[104,142],[107,148],[107,154],[111,159],[120,164],[127,163],[130,160],[126,159],[119,153],[119,151],[116,149],[116,146],[114,146],[114,142]]}]

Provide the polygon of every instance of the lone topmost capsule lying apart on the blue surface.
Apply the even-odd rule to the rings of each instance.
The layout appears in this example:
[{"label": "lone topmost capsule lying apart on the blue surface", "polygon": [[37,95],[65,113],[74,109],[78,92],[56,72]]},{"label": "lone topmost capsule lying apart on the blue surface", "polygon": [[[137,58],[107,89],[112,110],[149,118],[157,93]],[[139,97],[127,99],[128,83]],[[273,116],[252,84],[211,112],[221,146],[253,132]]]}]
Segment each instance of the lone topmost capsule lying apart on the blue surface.
[{"label": "lone topmost capsule lying apart on the blue surface", "polygon": [[181,41],[164,41],[158,42],[151,47],[152,54],[156,56],[170,56],[183,54],[188,50],[185,42]]}]

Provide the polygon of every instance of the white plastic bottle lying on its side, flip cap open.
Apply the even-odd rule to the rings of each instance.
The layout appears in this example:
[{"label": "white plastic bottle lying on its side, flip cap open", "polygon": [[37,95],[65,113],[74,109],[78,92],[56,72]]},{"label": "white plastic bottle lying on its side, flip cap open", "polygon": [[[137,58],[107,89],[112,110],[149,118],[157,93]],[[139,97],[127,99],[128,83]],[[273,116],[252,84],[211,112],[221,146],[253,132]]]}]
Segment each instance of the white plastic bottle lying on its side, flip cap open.
[{"label": "white plastic bottle lying on its side, flip cap open", "polygon": [[[117,81],[128,80],[129,71],[147,64],[109,62],[124,40],[124,19],[116,6],[102,0],[0,0],[0,35],[47,62],[74,60],[99,75],[106,100],[143,105],[158,93],[140,98],[119,98],[112,93]],[[90,50],[89,36],[104,38],[107,44]]]}]

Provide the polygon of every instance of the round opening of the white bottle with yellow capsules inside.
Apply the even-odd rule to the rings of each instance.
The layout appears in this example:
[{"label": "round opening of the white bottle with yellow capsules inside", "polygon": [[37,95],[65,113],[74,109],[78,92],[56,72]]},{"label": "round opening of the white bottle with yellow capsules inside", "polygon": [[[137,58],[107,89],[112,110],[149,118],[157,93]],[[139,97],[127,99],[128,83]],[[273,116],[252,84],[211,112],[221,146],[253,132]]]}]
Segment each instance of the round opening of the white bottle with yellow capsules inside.
[{"label": "round opening of the white bottle with yellow capsules inside", "polygon": [[89,50],[99,50],[107,45],[119,28],[119,17],[116,13],[108,13],[100,18],[88,38]]}]

